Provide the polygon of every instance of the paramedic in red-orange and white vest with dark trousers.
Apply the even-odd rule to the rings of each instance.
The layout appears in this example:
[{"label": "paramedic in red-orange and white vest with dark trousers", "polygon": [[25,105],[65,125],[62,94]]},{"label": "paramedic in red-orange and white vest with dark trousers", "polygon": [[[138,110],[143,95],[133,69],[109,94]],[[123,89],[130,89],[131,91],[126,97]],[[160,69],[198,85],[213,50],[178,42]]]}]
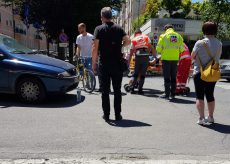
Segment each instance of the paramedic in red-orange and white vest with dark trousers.
[{"label": "paramedic in red-orange and white vest with dark trousers", "polygon": [[147,35],[142,35],[140,29],[135,31],[135,38],[132,40],[132,47],[130,51],[130,59],[135,55],[135,68],[133,74],[133,83],[132,83],[132,91],[134,93],[134,86],[137,83],[138,78],[138,94],[143,94],[143,85],[145,81],[146,71],[149,66],[149,55],[150,51],[153,56],[156,56],[156,51],[154,47],[151,45],[151,40]]}]

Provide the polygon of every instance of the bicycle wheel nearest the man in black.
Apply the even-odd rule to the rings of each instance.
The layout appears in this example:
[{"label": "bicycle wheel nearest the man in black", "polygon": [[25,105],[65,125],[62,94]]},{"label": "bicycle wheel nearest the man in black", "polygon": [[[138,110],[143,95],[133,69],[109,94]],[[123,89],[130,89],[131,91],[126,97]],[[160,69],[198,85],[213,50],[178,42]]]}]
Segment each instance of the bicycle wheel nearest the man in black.
[{"label": "bicycle wheel nearest the man in black", "polygon": [[85,69],[83,73],[83,87],[87,93],[92,93],[96,87],[96,78],[93,71]]}]

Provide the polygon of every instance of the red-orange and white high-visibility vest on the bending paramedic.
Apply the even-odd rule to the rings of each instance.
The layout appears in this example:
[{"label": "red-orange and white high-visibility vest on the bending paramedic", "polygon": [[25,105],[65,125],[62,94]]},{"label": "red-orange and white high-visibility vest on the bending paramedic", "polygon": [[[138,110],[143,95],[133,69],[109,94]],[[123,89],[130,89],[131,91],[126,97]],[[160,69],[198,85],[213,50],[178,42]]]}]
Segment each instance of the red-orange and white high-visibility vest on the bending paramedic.
[{"label": "red-orange and white high-visibility vest on the bending paramedic", "polygon": [[132,40],[133,47],[135,49],[141,49],[141,48],[150,48],[149,44],[149,37],[147,35],[137,35],[133,40]]}]

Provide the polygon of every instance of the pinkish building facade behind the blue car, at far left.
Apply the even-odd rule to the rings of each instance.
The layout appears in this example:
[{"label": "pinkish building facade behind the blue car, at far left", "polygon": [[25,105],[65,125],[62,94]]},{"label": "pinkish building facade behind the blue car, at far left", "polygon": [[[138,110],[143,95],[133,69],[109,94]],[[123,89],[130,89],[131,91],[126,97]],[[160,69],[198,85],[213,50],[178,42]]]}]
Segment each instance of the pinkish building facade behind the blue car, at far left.
[{"label": "pinkish building facade behind the blue car, at far left", "polygon": [[26,27],[20,16],[14,13],[11,4],[0,1],[0,33],[15,38],[31,49],[46,49],[46,37],[33,25]]}]

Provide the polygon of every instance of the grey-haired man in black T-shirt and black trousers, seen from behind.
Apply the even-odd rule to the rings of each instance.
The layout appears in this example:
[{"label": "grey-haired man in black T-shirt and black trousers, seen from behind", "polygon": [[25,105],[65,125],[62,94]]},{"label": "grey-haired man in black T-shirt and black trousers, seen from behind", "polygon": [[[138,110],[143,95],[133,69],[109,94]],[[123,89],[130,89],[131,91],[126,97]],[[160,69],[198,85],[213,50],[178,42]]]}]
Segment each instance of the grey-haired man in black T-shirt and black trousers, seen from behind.
[{"label": "grey-haired man in black T-shirt and black trousers, seen from behind", "polygon": [[130,44],[130,39],[125,31],[114,24],[112,20],[112,10],[105,7],[101,10],[102,25],[96,27],[93,43],[93,70],[97,70],[98,54],[99,73],[102,89],[102,108],[103,119],[107,122],[110,117],[110,83],[112,82],[114,90],[114,109],[115,119],[122,120],[121,116],[121,83],[123,77],[122,53],[123,46]]}]

